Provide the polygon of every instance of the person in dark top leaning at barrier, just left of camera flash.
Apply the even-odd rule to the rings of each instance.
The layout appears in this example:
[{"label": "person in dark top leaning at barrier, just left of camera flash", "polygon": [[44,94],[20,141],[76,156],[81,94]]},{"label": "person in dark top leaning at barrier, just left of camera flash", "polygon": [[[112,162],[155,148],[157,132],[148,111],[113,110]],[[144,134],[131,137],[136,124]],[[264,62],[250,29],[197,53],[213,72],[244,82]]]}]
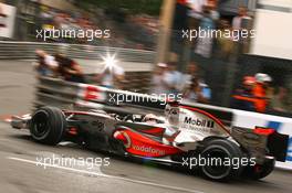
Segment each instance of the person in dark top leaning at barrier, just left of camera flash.
[{"label": "person in dark top leaning at barrier, just left of camera flash", "polygon": [[62,54],[55,54],[55,60],[59,63],[58,72],[62,78],[67,82],[85,83],[80,64]]}]

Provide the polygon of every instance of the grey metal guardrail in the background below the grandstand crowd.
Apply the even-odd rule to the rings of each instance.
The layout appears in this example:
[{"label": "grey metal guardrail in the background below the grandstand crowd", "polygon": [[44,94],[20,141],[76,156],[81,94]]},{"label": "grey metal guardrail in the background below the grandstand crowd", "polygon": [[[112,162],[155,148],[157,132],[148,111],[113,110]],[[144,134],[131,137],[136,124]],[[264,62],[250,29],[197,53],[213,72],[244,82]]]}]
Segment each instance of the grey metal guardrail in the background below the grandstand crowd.
[{"label": "grey metal guardrail in the background below the grandstand crowd", "polygon": [[0,41],[0,60],[30,60],[35,58],[35,50],[41,49],[49,53],[62,53],[73,58],[101,60],[107,53],[116,54],[121,61],[154,63],[155,52],[122,47],[95,46],[85,44],[10,42]]}]

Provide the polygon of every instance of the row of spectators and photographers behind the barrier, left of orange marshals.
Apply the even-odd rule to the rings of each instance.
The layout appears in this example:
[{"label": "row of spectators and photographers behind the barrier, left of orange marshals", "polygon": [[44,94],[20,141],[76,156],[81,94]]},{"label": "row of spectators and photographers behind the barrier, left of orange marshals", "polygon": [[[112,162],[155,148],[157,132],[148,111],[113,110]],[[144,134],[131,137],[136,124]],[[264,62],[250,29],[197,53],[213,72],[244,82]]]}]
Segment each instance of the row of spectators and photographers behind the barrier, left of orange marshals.
[{"label": "row of spectators and photographers behind the barrier, left of orange marshals", "polygon": [[[38,63],[35,69],[39,76],[62,78],[67,82],[87,83],[81,65],[62,54],[50,55],[43,50],[35,51]],[[111,58],[104,62],[102,71],[92,78],[94,84],[107,88],[123,89],[125,72]],[[92,84],[92,83],[91,83]],[[177,71],[177,63],[158,63],[154,69],[149,94],[157,96],[176,96],[176,99],[209,103],[211,89],[199,76],[199,67],[195,62],[187,65],[184,73]],[[178,97],[180,95],[180,97]]]}]

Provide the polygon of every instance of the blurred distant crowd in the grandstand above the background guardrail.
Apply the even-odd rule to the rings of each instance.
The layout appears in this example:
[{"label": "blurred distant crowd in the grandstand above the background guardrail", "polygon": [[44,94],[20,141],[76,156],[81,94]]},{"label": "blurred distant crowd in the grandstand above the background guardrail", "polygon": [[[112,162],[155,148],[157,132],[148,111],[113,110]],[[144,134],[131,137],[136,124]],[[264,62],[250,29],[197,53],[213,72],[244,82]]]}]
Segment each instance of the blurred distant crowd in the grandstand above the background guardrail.
[{"label": "blurred distant crowd in the grandstand above the background guardrail", "polygon": [[[95,15],[96,14],[96,15]],[[87,41],[85,36],[51,37],[51,42],[84,43],[94,45],[109,45],[125,49],[154,50],[156,34],[158,33],[158,19],[147,14],[127,15],[123,22],[115,21],[104,10],[97,13],[65,12],[42,7],[40,25],[42,30],[108,30],[109,37]],[[39,28],[39,26],[38,26]],[[140,36],[144,36],[143,39]]]}]

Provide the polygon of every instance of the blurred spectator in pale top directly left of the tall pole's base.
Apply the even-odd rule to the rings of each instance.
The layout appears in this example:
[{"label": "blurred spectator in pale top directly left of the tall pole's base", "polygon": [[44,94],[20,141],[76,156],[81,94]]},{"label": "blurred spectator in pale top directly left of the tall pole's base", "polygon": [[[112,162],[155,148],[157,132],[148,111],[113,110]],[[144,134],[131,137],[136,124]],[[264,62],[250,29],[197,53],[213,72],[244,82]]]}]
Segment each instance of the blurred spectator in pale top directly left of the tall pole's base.
[{"label": "blurred spectator in pale top directly left of the tall pole's base", "polygon": [[158,63],[152,79],[152,94],[165,94],[167,90],[166,84],[164,84],[165,72],[167,64]]}]

